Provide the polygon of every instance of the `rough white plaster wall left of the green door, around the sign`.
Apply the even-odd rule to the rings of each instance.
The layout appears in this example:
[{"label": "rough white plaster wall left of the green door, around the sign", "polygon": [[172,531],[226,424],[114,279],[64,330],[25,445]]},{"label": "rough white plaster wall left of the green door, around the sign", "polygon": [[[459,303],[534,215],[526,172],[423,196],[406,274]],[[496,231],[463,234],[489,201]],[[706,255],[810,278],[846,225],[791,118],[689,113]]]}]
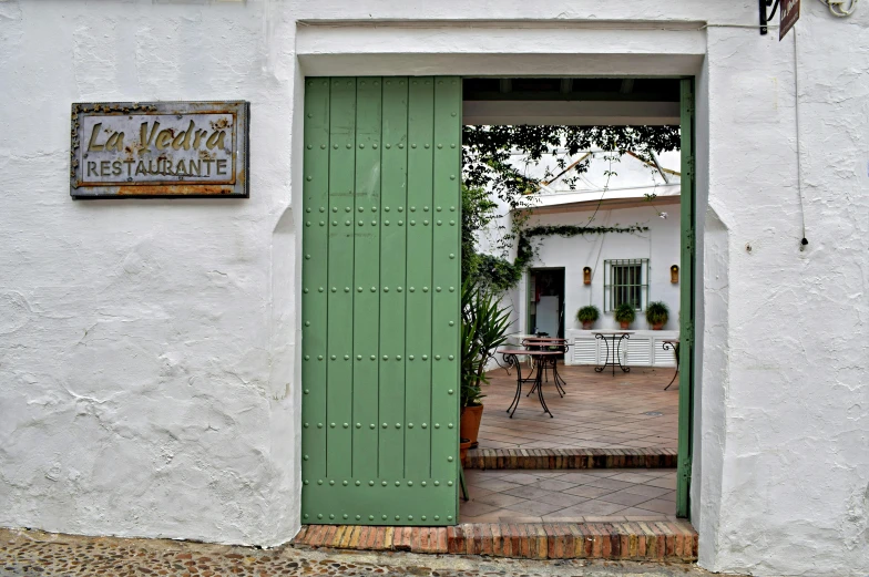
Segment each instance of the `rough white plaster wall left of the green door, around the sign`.
[{"label": "rough white plaster wall left of the green door, around the sign", "polygon": [[[298,526],[292,58],[264,6],[0,2],[0,525]],[[70,103],[253,102],[247,200],[69,197]]]}]

